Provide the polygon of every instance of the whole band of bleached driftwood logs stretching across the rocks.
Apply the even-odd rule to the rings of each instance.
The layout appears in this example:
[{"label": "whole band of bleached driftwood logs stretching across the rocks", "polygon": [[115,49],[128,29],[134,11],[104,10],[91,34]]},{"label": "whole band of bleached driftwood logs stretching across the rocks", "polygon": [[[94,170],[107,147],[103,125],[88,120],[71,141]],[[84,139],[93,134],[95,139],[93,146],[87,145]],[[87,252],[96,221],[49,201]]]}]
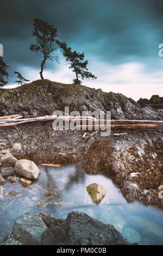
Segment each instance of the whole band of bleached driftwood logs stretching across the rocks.
[{"label": "whole band of bleached driftwood logs stretching across the rocks", "polygon": [[[158,127],[158,124],[163,124],[163,120],[104,120],[96,119],[94,117],[87,116],[62,116],[57,117],[57,115],[46,115],[45,117],[36,117],[36,118],[22,118],[19,114],[7,115],[5,117],[0,117],[0,128],[3,127],[14,127],[18,124],[24,124],[35,121],[53,121],[53,120],[62,120],[64,122],[80,122],[80,125],[77,125],[76,128],[81,129],[94,129],[99,130],[104,127],[111,127],[111,129],[151,129]],[[112,124],[117,123],[117,124]],[[123,123],[123,124],[122,124]]]}]

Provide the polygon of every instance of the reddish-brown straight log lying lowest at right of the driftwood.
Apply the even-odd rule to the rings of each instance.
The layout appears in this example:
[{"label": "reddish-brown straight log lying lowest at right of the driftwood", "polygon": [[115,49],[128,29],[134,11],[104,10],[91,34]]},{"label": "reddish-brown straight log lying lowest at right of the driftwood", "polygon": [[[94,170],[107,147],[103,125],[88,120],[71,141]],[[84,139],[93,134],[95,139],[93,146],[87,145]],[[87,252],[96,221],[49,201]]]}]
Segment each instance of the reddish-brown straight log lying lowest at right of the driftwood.
[{"label": "reddish-brown straight log lying lowest at right of the driftwood", "polygon": [[151,129],[151,128],[157,128],[158,125],[156,124],[131,124],[131,125],[125,125],[125,124],[117,124],[117,125],[78,125],[76,126],[77,129],[101,129],[104,127],[110,127],[111,129]]}]

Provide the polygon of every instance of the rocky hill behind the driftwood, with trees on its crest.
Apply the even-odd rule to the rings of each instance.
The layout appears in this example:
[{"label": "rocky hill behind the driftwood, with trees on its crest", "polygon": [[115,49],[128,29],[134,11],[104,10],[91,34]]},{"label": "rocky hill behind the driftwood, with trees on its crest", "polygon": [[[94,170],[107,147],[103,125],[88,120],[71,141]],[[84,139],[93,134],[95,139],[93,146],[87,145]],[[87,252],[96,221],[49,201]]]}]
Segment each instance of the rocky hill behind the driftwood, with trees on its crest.
[{"label": "rocky hill behind the driftwood, with trees on its crest", "polygon": [[54,111],[111,111],[112,118],[161,120],[163,113],[151,107],[141,108],[134,100],[101,89],[74,86],[49,80],[37,80],[15,89],[0,92],[0,115],[21,114],[23,117],[52,115]]}]

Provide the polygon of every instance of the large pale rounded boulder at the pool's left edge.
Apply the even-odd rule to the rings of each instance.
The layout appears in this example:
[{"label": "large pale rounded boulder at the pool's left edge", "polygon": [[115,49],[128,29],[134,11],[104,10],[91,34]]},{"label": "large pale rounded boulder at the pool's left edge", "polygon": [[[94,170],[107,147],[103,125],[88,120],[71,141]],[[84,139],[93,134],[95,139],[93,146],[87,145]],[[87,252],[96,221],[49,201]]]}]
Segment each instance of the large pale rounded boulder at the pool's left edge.
[{"label": "large pale rounded boulder at the pool's left edge", "polygon": [[15,172],[29,180],[39,178],[40,170],[33,161],[21,159],[15,163]]}]

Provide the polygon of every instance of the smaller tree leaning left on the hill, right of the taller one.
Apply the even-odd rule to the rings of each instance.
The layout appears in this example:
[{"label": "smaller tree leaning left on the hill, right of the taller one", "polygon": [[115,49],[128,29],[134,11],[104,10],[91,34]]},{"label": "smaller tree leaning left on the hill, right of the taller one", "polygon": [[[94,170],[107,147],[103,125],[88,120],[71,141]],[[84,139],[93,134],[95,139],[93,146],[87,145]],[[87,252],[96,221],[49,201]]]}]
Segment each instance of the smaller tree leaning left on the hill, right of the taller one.
[{"label": "smaller tree leaning left on the hill, right of the taller one", "polygon": [[72,69],[76,73],[76,79],[73,80],[73,84],[80,84],[79,76],[84,78],[96,79],[97,76],[93,75],[91,72],[87,71],[88,61],[84,60],[84,52],[77,53],[76,51],[72,52],[71,47],[67,46],[65,42],[59,42],[57,40],[63,56],[66,58],[66,62],[70,63],[69,69]]}]

